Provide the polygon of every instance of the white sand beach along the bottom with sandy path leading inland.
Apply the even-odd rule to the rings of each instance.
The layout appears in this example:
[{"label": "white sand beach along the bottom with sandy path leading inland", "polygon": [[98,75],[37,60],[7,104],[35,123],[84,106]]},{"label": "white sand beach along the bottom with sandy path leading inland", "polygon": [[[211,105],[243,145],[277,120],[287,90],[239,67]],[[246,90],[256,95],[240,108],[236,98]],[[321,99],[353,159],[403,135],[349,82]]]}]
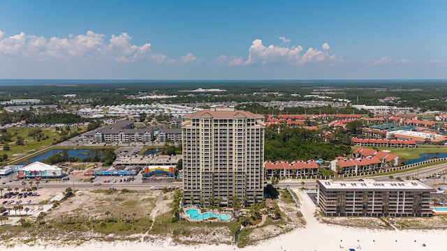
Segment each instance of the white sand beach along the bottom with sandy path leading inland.
[{"label": "white sand beach along the bottom with sandy path leading inland", "polygon": [[[353,227],[340,227],[336,225],[325,225],[314,218],[314,204],[304,192],[295,190],[302,203],[301,211],[307,221],[304,229],[296,229],[288,234],[272,238],[268,241],[258,243],[256,246],[237,248],[233,245],[198,245],[184,246],[172,245],[169,241],[159,243],[83,243],[78,247],[54,247],[44,246],[15,246],[10,251],[93,251],[93,250],[125,250],[132,248],[135,251],[184,251],[184,250],[247,250],[247,251],[272,251],[272,250],[444,250],[447,231],[399,231],[399,230],[370,230],[356,229]],[[423,246],[425,244],[425,246]],[[3,248],[2,248],[3,250]]]}]

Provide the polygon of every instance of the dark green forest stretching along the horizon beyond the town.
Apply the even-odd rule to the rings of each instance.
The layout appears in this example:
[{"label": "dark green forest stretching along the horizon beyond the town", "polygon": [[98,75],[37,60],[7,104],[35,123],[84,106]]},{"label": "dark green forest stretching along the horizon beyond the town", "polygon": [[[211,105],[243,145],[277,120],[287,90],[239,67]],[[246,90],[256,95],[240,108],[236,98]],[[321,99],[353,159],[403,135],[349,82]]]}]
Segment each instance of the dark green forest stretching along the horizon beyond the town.
[{"label": "dark green forest stretching along the horizon beyond the town", "polygon": [[[318,81],[114,81],[82,83],[78,81],[56,80],[57,84],[40,86],[1,85],[0,101],[14,98],[39,98],[43,104],[64,105],[66,100],[72,103],[90,105],[144,104],[151,102],[135,96],[149,94],[175,95],[176,98],[156,100],[166,103],[201,102],[270,102],[309,100],[306,95],[323,93],[335,99],[351,100],[353,105],[396,105],[399,107],[420,107],[422,110],[447,111],[447,81],[445,80],[318,80]],[[75,84],[73,84],[75,83]],[[224,89],[219,93],[198,93],[192,90]],[[65,98],[64,94],[75,93],[75,98]],[[253,95],[267,93],[267,95]],[[281,93],[280,96],[269,93]],[[291,95],[293,94],[293,96]],[[385,97],[397,98],[395,102],[381,102]],[[270,111],[271,112],[271,111]],[[269,114],[265,111],[263,114]],[[294,113],[291,110],[289,113]],[[297,113],[303,113],[297,110]],[[316,113],[318,111],[313,111]],[[346,111],[346,113],[349,111]],[[261,113],[261,112],[259,112]],[[311,112],[307,112],[311,114]]]}]

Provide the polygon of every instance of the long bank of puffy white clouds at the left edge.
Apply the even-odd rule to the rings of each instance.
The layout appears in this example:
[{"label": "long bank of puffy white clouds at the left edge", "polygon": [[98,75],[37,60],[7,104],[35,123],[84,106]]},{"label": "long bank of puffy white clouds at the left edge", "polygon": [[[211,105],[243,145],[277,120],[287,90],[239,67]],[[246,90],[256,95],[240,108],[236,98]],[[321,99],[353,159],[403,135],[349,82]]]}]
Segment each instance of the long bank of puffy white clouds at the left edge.
[{"label": "long bank of puffy white clouds at the left edge", "polygon": [[[113,59],[119,63],[135,61],[155,61],[156,63],[175,63],[177,60],[169,59],[165,54],[155,54],[151,44],[138,46],[131,43],[132,37],[127,33],[112,35],[105,42],[105,35],[87,31],[78,36],[70,35],[68,38],[52,37],[50,39],[20,33],[10,37],[3,37],[0,31],[0,56],[14,56],[33,58],[40,61],[47,59],[82,59],[82,60],[108,60]],[[189,63],[198,61],[193,54],[181,56],[178,61]]]}]

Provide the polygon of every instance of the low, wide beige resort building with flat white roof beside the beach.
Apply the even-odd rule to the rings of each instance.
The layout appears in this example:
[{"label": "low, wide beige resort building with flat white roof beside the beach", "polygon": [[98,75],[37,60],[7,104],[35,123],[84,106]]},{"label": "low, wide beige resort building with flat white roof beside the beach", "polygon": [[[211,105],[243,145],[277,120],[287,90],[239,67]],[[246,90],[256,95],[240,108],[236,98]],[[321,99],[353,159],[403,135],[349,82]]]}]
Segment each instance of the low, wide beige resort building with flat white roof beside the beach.
[{"label": "low, wide beige resort building with flat white roof beside the beach", "polygon": [[432,216],[430,192],[420,181],[316,181],[316,204],[327,216]]}]

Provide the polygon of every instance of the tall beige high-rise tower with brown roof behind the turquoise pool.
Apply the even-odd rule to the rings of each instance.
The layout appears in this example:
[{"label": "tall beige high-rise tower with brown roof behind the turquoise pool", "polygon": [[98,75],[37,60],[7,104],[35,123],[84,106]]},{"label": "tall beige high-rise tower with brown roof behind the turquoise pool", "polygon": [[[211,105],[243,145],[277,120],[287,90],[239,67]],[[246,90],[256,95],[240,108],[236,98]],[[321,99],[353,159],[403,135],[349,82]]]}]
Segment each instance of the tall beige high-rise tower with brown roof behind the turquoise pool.
[{"label": "tall beige high-rise tower with brown roof behind the turquoise pool", "polygon": [[182,119],[184,204],[262,201],[264,117],[212,107]]}]

